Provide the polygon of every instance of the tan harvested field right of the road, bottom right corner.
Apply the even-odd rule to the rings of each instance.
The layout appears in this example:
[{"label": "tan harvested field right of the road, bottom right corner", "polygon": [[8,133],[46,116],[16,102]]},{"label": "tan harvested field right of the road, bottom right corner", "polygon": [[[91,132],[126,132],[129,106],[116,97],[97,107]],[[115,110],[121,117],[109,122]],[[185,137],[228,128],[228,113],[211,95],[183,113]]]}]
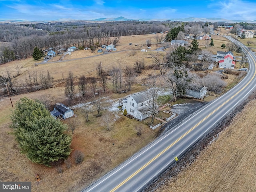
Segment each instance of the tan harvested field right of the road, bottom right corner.
[{"label": "tan harvested field right of the road, bottom right corner", "polygon": [[252,100],[194,163],[155,191],[256,191],[255,109]]}]

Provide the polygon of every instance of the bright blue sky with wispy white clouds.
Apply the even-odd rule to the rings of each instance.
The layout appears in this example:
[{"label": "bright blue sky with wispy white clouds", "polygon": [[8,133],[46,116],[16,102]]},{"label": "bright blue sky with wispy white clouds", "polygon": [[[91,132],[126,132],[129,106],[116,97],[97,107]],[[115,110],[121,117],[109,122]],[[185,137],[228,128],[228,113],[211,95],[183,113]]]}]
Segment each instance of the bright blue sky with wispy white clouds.
[{"label": "bright blue sky with wispy white clouds", "polygon": [[0,0],[0,20],[224,18],[256,20],[255,0]]}]

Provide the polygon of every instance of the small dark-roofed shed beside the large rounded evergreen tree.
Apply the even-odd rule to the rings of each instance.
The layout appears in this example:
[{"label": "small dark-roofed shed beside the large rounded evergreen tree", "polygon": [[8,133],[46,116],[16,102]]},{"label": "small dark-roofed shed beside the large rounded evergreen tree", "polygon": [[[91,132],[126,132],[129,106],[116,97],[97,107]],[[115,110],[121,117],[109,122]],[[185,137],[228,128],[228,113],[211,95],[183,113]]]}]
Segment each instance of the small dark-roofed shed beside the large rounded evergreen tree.
[{"label": "small dark-roofed shed beside the large rounded evergreen tree", "polygon": [[56,103],[53,107],[53,111],[51,111],[51,115],[54,116],[55,118],[70,118],[74,116],[73,110],[68,108],[66,105],[62,103]]}]

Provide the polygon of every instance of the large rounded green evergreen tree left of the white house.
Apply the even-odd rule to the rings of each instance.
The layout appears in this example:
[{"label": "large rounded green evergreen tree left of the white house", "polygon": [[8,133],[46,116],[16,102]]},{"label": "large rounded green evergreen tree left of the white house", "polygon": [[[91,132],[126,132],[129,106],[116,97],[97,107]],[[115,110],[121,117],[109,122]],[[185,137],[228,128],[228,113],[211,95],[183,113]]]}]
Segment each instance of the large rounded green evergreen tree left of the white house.
[{"label": "large rounded green evergreen tree left of the white house", "polygon": [[40,102],[22,98],[11,115],[14,135],[22,153],[34,163],[50,166],[71,152],[66,126],[55,120]]}]

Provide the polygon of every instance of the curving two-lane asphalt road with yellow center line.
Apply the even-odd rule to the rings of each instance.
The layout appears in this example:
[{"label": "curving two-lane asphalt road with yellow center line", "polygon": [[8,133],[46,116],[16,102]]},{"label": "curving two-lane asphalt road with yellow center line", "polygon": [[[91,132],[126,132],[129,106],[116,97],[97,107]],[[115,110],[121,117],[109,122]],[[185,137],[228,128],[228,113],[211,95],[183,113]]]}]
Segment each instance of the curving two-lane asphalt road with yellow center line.
[{"label": "curving two-lane asphalt road with yellow center line", "polygon": [[135,192],[143,190],[175,162],[175,157],[182,156],[210,128],[252,92],[256,86],[256,57],[251,51],[248,56],[250,70],[244,80],[221,97],[205,105],[202,110],[192,115],[180,126],[149,144],[83,192]]}]

